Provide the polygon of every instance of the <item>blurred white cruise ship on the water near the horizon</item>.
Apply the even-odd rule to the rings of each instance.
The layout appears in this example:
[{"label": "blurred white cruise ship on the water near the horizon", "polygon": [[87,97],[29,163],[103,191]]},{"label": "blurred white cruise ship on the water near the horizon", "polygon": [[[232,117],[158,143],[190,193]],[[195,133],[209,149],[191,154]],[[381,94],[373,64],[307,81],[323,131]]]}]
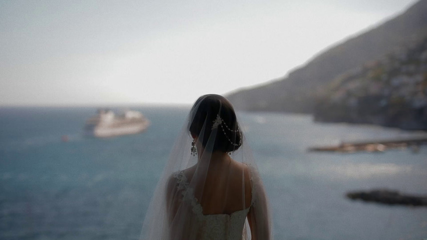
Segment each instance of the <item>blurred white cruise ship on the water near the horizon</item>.
[{"label": "blurred white cruise ship on the water near the horizon", "polygon": [[116,115],[112,110],[99,109],[86,121],[84,129],[87,136],[112,137],[140,133],[149,125],[150,121],[139,111],[127,110]]}]

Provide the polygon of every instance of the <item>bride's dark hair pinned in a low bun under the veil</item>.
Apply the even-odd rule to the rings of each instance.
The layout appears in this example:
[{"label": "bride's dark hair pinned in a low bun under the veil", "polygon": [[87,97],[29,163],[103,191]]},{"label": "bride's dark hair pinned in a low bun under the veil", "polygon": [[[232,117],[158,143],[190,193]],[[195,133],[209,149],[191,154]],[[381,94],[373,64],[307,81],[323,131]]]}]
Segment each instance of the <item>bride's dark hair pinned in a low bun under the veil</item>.
[{"label": "bride's dark hair pinned in a low bun under the veil", "polygon": [[[190,133],[196,136],[205,136],[202,137],[201,142],[203,147],[205,147],[209,138],[207,136],[210,136],[212,133],[212,124],[217,114],[220,115],[224,123],[231,130],[228,130],[225,126],[218,126],[212,152],[217,150],[223,152],[237,150],[242,144],[242,133],[237,123],[233,105],[227,98],[221,95],[208,94],[196,100],[190,111],[188,126]],[[224,131],[222,127],[224,127]]]}]

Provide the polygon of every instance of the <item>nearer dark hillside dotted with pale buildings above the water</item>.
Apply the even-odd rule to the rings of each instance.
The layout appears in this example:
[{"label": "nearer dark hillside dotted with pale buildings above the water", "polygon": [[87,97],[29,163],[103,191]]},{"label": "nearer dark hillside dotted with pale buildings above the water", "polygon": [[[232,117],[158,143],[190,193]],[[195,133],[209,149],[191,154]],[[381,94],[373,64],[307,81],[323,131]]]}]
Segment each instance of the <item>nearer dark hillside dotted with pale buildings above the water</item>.
[{"label": "nearer dark hillside dotted with pale buildings above the water", "polygon": [[341,74],[323,90],[317,121],[427,130],[427,37]]}]

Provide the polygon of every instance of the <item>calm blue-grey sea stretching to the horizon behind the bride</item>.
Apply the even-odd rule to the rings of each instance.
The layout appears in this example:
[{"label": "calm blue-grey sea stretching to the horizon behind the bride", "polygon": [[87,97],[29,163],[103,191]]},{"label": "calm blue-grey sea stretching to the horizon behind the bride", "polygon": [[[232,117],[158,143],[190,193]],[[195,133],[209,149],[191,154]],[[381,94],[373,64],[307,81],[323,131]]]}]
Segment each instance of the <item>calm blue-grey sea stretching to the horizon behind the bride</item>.
[{"label": "calm blue-grey sea stretching to the horizon behind the bride", "polygon": [[[139,239],[189,107],[133,106],[149,128],[111,138],[83,134],[97,107],[0,107],[0,239]],[[308,151],[425,132],[318,123],[305,114],[238,116],[268,194],[274,239],[427,239],[427,207],[345,196],[370,189],[427,195],[427,146]]]}]

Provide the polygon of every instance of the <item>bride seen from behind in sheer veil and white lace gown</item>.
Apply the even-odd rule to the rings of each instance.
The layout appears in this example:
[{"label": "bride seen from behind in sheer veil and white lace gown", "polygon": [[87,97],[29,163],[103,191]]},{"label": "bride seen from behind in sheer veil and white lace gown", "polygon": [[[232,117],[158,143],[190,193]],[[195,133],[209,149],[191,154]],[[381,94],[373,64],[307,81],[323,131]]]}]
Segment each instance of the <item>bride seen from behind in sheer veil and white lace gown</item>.
[{"label": "bride seen from behind in sheer veil and white lace gown", "polygon": [[271,238],[268,202],[231,103],[192,106],[154,192],[141,239]]}]

